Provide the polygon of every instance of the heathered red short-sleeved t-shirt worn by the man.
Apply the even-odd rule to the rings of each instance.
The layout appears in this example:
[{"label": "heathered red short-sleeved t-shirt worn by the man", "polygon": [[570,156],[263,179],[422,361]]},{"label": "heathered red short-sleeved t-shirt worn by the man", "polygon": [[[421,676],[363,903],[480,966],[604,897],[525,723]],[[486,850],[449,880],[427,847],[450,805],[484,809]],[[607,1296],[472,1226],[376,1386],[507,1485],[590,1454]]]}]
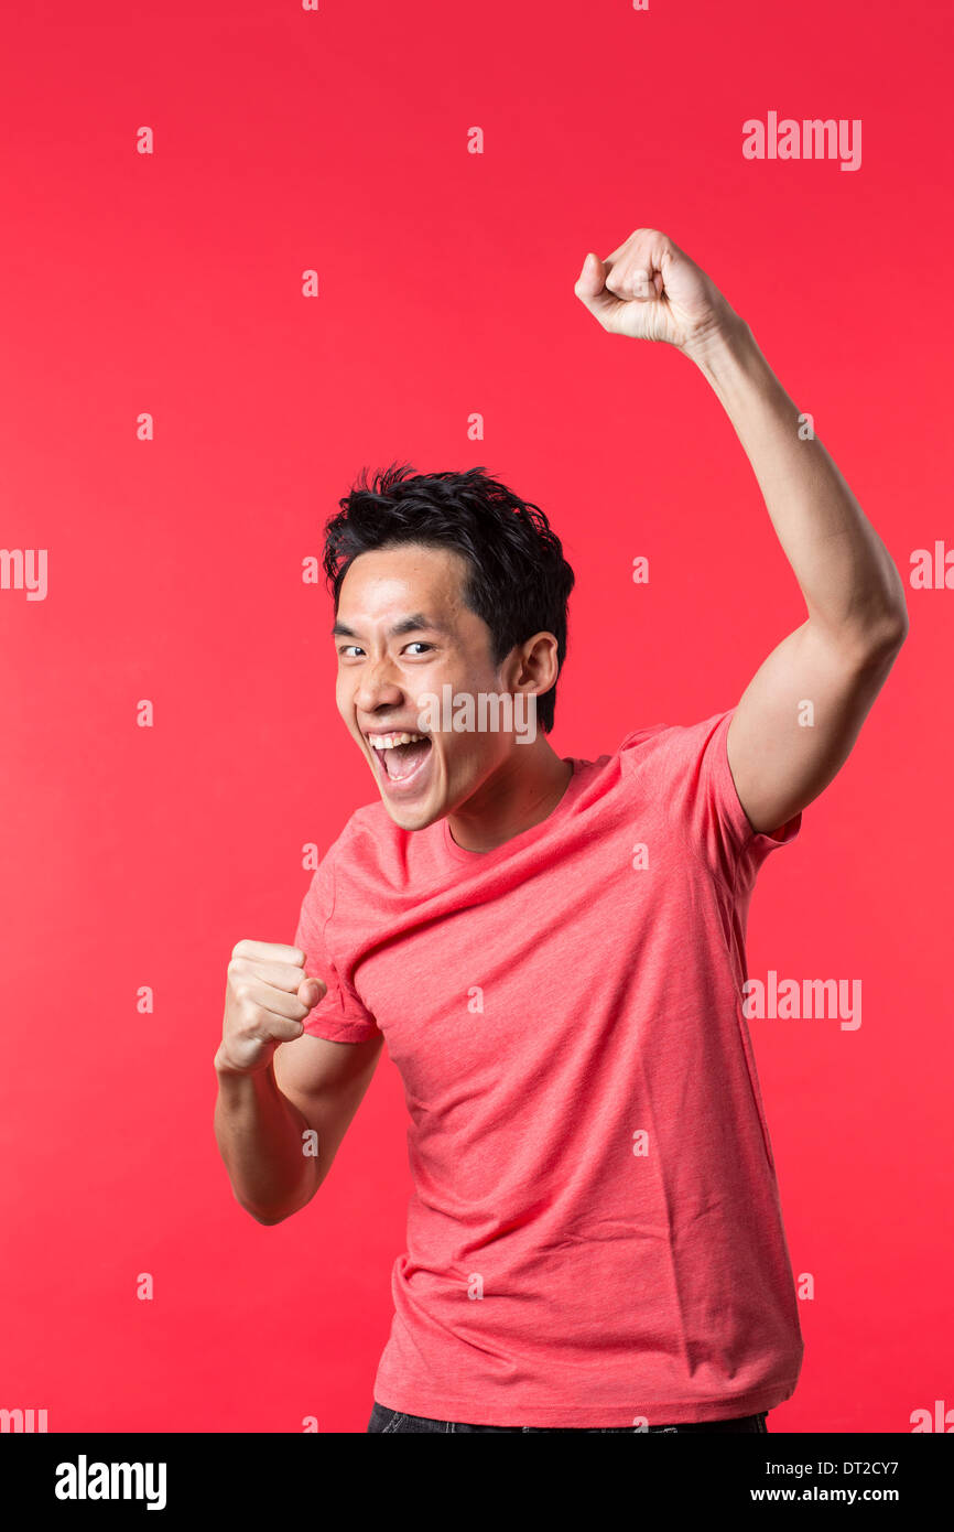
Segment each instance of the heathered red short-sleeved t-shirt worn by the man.
[{"label": "heathered red short-sleeved t-shirt worn by the man", "polygon": [[357,809],[302,905],[306,1031],[384,1034],[413,1193],[374,1397],[475,1425],[770,1409],[802,1337],[743,1014],[769,852],[733,709],[573,760],[492,852]]}]

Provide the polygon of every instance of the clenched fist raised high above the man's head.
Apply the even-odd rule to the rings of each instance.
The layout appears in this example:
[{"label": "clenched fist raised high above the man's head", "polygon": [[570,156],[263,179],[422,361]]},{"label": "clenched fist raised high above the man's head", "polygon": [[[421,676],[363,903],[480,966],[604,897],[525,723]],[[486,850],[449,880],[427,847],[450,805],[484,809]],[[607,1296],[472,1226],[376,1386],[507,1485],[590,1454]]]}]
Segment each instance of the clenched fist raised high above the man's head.
[{"label": "clenched fist raised high above the man's head", "polygon": [[706,273],[657,228],[637,228],[605,260],[590,253],[573,291],[611,334],[666,340],[689,355],[740,323]]}]

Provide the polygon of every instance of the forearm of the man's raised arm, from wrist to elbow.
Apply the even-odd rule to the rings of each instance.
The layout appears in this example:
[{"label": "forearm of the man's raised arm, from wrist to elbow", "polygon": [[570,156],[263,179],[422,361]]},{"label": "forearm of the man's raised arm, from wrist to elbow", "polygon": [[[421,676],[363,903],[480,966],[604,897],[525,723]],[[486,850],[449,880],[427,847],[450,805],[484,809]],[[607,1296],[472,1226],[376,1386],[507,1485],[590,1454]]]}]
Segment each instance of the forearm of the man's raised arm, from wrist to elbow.
[{"label": "forearm of the man's raised arm, from wrist to elbow", "polygon": [[907,627],[897,567],[744,320],[694,355],[746,450],[809,617],[862,643]]}]

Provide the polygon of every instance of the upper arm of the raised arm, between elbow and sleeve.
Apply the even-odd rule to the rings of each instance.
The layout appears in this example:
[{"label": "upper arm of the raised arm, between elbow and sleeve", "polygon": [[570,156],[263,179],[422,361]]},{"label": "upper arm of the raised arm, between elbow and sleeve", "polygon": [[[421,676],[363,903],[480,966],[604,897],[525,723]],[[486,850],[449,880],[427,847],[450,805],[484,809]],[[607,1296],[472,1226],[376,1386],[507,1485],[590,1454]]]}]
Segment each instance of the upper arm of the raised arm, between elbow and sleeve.
[{"label": "upper arm of the raised arm, between elbow and sleeve", "polygon": [[903,633],[850,643],[807,619],[769,654],[726,737],[753,830],[776,832],[841,771],[902,643]]}]

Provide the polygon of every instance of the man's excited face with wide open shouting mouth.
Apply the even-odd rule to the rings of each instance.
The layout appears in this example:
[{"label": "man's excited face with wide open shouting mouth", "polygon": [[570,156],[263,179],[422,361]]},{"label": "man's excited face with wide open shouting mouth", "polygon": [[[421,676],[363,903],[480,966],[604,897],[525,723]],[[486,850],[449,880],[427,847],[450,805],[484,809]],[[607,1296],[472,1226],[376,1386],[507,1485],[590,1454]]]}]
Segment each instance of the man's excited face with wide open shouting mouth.
[{"label": "man's excited face with wide open shouting mouth", "polygon": [[[492,665],[490,628],[464,607],[466,578],[459,553],[403,544],[358,555],[338,594],[338,712],[406,830],[458,809],[513,749],[513,734],[501,731],[418,726],[426,694],[443,699],[450,686],[452,697],[476,699],[505,689],[507,662]],[[426,738],[384,751],[371,743],[390,734]]]}]

